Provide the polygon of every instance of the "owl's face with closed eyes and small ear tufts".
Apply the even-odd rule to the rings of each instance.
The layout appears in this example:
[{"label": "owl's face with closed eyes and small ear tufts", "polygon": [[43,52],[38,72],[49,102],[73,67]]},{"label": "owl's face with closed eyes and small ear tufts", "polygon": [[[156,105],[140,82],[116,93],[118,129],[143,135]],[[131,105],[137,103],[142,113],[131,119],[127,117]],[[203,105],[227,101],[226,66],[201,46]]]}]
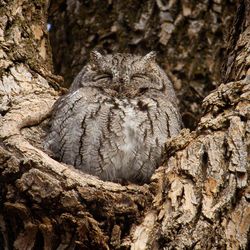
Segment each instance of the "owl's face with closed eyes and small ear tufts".
[{"label": "owl's face with closed eyes and small ear tufts", "polygon": [[142,57],[119,53],[101,55],[95,51],[82,82],[83,86],[101,88],[114,95],[137,96],[150,89],[164,89],[160,74],[154,52]]}]

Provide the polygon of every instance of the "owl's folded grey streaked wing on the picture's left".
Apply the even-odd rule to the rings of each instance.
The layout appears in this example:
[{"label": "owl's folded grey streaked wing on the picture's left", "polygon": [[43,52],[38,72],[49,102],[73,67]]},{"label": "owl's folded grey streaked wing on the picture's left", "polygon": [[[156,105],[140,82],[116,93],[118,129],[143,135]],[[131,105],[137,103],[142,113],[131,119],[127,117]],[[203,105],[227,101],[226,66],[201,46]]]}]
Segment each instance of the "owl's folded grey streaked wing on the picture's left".
[{"label": "owl's folded grey streaked wing on the picture's left", "polygon": [[79,160],[86,119],[100,106],[98,94],[93,88],[80,88],[61,97],[55,104],[45,148],[52,150],[61,161],[75,165]]}]

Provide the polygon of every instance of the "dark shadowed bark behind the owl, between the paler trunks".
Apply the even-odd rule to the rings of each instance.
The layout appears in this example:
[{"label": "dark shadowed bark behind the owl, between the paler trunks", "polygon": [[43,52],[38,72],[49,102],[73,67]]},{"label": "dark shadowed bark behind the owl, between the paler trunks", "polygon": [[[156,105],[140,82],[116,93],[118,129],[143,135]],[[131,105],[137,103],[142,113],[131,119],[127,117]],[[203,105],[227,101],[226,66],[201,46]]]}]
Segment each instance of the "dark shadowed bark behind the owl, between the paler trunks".
[{"label": "dark shadowed bark behind the owl, between the paler trunks", "polygon": [[232,13],[237,1],[68,0],[51,1],[50,41],[55,73],[64,87],[89,53],[158,52],[172,80],[185,127],[194,129],[201,102],[221,83]]}]

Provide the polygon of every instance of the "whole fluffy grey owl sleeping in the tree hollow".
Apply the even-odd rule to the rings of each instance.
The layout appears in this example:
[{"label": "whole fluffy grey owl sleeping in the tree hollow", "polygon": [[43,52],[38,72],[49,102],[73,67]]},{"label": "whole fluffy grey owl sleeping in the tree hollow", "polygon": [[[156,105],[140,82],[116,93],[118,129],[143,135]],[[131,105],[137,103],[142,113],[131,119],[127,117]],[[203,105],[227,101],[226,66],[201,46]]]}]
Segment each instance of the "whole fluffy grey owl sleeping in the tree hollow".
[{"label": "whole fluffy grey owl sleeping in the tree hollow", "polygon": [[92,52],[54,105],[49,148],[62,162],[114,182],[148,182],[181,129],[173,86],[155,53]]}]

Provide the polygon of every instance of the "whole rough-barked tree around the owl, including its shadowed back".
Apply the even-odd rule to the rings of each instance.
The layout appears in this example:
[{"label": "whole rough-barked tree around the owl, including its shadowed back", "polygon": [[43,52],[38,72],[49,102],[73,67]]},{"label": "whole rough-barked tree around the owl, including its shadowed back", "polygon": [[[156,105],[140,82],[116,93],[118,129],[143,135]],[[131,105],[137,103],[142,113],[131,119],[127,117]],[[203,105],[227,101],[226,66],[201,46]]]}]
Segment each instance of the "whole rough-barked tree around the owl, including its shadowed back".
[{"label": "whole rough-barked tree around the owl, including its shadowed back", "polygon": [[[201,109],[203,115],[197,126],[196,118],[191,125],[185,122],[195,130],[183,129],[166,142],[164,164],[143,186],[103,182],[53,160],[43,151],[42,139],[63,83],[52,72],[48,1],[1,1],[0,249],[246,249],[249,2],[238,3],[235,12],[236,3],[227,1],[204,1],[197,7],[190,3],[195,1],[101,2],[50,5],[54,63],[66,82],[94,46],[125,51],[130,44],[128,51],[140,53],[158,49],[162,66],[181,89],[184,122]],[[113,19],[103,20],[110,11]],[[100,18],[104,26],[99,34]],[[77,26],[86,32],[84,45]],[[65,39],[69,30],[74,35]],[[92,33],[98,37],[91,38]],[[219,79],[223,84],[214,84]],[[201,107],[199,100],[216,86]],[[195,92],[200,99],[193,98]]]}]

